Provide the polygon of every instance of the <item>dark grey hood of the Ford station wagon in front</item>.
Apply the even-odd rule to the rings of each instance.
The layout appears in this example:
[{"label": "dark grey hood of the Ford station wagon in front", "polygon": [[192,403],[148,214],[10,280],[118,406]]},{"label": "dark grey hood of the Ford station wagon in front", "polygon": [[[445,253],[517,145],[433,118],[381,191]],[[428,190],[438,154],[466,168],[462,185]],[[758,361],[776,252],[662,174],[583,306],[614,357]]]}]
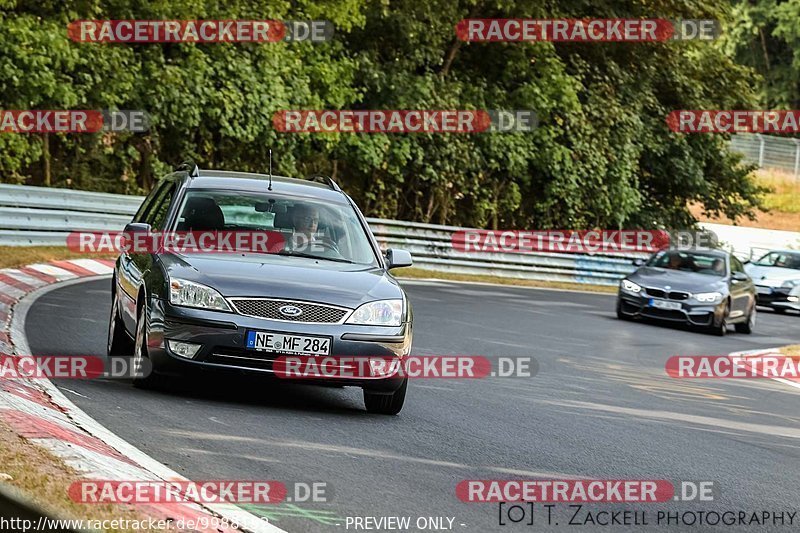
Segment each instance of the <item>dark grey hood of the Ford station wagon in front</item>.
[{"label": "dark grey hood of the Ford station wagon in front", "polygon": [[169,276],[213,287],[223,296],[307,300],[355,309],[402,298],[386,271],[368,265],[264,254],[163,254]]}]

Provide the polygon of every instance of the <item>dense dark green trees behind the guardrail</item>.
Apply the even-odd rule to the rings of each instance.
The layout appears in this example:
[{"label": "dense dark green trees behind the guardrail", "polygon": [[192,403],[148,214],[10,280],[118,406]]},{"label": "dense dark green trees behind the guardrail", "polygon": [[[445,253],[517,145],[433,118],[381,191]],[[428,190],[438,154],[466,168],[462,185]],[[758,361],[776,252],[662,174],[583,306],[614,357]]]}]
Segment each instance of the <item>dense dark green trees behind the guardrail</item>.
[{"label": "dense dark green trees behind the guardrail", "polygon": [[[788,2],[795,5],[797,2]],[[782,8],[784,9],[784,8]],[[786,8],[788,9],[788,8]],[[0,0],[4,109],[142,109],[146,134],[0,135],[4,181],[136,193],[178,162],[332,175],[369,215],[480,227],[685,226],[736,219],[749,169],[675,109],[748,108],[757,78],[708,42],[464,43],[469,17],[739,16],[723,0]],[[75,43],[77,19],[333,22],[332,42]],[[783,28],[783,29],[780,29]],[[789,39],[789,26],[776,25]],[[783,33],[780,33],[783,32]],[[527,109],[527,133],[286,134],[286,109]]]}]

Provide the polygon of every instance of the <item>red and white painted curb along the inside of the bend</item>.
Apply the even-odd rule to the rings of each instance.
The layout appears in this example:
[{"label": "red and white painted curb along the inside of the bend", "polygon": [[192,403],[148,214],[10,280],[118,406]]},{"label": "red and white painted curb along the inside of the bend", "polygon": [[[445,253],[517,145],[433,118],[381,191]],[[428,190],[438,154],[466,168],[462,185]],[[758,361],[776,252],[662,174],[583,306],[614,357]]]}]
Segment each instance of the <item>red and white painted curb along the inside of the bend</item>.
[{"label": "red and white painted curb along the inside of the bend", "polygon": [[[31,355],[24,331],[33,301],[54,283],[108,276],[113,261],[73,259],[0,270],[0,355]],[[18,435],[60,457],[86,479],[188,481],[114,435],[79,409],[49,380],[0,379],[0,420]],[[64,487],[66,493],[67,487]],[[168,503],[136,505],[145,515],[207,525],[193,531],[237,531],[213,527],[235,523],[253,533],[284,533],[234,504]]]}]

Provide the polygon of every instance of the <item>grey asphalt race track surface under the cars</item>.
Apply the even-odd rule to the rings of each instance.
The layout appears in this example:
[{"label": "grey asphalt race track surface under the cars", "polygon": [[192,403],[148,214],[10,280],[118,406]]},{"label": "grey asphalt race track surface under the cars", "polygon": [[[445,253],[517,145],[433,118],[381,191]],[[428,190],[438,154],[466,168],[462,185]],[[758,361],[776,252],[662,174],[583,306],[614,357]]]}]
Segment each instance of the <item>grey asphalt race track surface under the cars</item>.
[{"label": "grey asphalt race track surface under the cars", "polygon": [[[26,332],[34,354],[104,355],[108,279],[39,298]],[[454,531],[601,530],[500,526],[498,504],[460,502],[463,479],[602,478],[714,481],[714,502],[644,510],[626,531],[764,531],[655,524],[662,511],[800,510],[800,389],[772,380],[676,380],[671,355],[726,354],[800,342],[800,316],[759,314],[756,333],[719,338],[621,322],[609,295],[444,282],[405,283],[414,353],[532,356],[532,378],[413,382],[398,417],[369,415],[355,389],[272,382],[186,382],[170,392],[129,382],[60,381],[67,396],[117,435],[193,480],[324,481],[331,501],[250,509],[287,531],[353,531],[346,517],[454,518]],[[526,522],[526,518],[523,522]],[[788,520],[788,519],[787,519]],[[557,526],[555,521],[559,522]],[[338,524],[338,526],[337,526]],[[447,520],[444,521],[447,525]],[[412,531],[418,531],[416,528]]]}]

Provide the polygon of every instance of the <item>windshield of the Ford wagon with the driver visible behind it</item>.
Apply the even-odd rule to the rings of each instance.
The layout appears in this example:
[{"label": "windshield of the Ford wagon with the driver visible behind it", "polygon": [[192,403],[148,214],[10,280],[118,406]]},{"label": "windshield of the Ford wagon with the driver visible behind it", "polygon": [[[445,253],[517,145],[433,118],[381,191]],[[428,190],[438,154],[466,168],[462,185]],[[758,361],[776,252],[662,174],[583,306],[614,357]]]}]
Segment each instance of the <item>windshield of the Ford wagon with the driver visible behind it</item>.
[{"label": "windshield of the Ford wagon with the driver visible behind it", "polygon": [[268,253],[378,264],[367,233],[347,204],[271,193],[191,190],[179,213],[177,232],[268,233],[280,241]]}]

